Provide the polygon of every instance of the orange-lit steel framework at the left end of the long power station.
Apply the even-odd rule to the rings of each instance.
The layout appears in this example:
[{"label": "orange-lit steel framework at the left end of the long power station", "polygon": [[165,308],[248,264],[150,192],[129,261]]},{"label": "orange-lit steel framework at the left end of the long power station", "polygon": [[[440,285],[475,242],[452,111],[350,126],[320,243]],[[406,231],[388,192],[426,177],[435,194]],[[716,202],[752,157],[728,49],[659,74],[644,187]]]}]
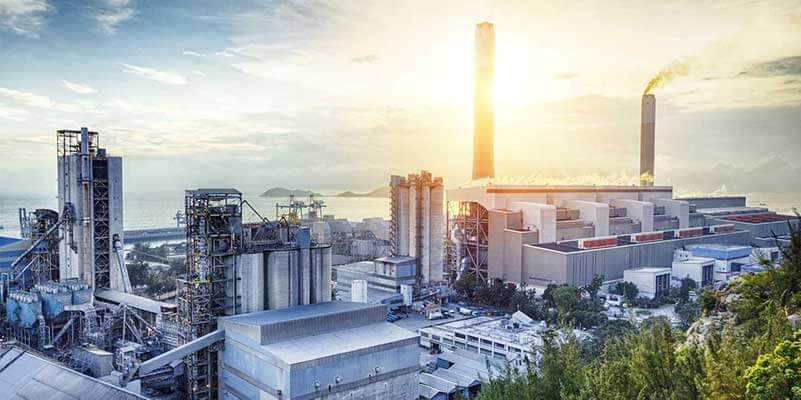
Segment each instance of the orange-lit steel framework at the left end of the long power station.
[{"label": "orange-lit steel framework at the left end of the long power station", "polygon": [[489,213],[474,201],[452,201],[447,206],[447,265],[451,279],[474,274],[487,281]]}]

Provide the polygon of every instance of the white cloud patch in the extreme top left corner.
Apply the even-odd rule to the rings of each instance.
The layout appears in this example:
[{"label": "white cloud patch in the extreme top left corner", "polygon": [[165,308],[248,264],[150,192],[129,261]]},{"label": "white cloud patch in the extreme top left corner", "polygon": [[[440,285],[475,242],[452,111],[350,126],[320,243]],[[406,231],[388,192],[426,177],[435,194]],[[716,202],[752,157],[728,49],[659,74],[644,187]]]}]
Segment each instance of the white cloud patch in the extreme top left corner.
[{"label": "white cloud patch in the extreme top left corner", "polygon": [[47,0],[0,1],[0,29],[38,39],[47,27],[47,15],[53,7]]}]

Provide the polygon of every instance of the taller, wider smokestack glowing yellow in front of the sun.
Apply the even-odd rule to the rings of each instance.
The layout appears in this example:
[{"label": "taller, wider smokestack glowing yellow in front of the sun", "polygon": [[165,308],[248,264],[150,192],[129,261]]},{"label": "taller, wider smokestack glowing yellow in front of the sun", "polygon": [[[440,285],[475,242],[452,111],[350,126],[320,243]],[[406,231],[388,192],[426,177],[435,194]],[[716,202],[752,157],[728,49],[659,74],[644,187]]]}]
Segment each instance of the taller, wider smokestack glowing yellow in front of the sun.
[{"label": "taller, wider smokestack glowing yellow in front of the sun", "polygon": [[495,75],[495,29],[476,25],[475,99],[473,104],[473,179],[495,177],[492,86]]}]

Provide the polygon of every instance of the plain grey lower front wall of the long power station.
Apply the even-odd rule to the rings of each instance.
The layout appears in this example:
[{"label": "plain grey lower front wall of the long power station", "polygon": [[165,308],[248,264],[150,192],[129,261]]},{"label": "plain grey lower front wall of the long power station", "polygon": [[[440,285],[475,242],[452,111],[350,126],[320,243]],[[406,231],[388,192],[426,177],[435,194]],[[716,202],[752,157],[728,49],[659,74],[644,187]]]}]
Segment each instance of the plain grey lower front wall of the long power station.
[{"label": "plain grey lower front wall of the long power station", "polygon": [[523,274],[532,284],[549,281],[581,286],[595,274],[604,280],[623,278],[623,271],[638,267],[666,267],[673,263],[673,251],[689,244],[747,244],[749,235],[738,231],[687,239],[663,240],[595,250],[559,252],[537,246],[523,246]]}]

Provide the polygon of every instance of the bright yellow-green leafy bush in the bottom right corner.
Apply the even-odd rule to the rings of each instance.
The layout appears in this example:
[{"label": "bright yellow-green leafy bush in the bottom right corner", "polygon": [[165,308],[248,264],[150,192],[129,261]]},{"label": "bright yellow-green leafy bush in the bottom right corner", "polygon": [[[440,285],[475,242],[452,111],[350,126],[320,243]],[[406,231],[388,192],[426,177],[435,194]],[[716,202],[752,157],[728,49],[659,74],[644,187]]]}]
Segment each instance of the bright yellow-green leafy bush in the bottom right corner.
[{"label": "bright yellow-green leafy bush in the bottom right corner", "polygon": [[755,400],[801,399],[801,332],[759,356],[745,378],[747,393]]}]

